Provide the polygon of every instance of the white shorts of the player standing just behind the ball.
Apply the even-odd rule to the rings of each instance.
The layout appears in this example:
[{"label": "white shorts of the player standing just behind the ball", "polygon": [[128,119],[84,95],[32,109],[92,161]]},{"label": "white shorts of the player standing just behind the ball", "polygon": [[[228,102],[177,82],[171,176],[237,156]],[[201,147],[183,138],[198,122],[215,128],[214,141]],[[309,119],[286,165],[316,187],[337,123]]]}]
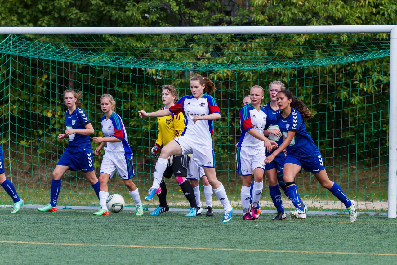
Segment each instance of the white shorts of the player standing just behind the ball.
[{"label": "white shorts of the player standing just behind the ball", "polygon": [[100,165],[100,173],[109,174],[112,178],[116,170],[123,180],[129,180],[135,176],[132,155],[124,152],[105,152]]}]

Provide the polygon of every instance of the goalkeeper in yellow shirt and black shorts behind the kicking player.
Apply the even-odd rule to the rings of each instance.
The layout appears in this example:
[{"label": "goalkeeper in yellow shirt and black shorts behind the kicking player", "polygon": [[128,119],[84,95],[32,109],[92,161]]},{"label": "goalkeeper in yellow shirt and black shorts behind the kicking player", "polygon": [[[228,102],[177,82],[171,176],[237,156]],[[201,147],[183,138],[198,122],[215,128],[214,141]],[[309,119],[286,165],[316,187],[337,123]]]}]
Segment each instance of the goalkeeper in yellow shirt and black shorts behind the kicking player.
[{"label": "goalkeeper in yellow shirt and black shorts behind the kicking player", "polygon": [[[178,92],[172,85],[163,85],[161,89],[162,101],[165,105],[162,109],[168,109],[178,101]],[[158,136],[156,144],[152,147],[152,155],[157,158],[160,147],[172,141],[175,137],[181,136],[185,130],[185,117],[182,112],[171,114],[170,116],[158,117]],[[188,155],[171,156],[166,170],[160,182],[160,188],[156,190],[156,194],[160,201],[160,205],[150,215],[160,215],[168,211],[167,204],[167,187],[164,178],[175,176],[177,183],[181,187],[183,194],[190,203],[190,211],[186,216],[201,216],[201,208],[197,207],[195,193],[189,181],[186,180],[187,165],[190,157]],[[147,199],[147,198],[145,198]]]}]

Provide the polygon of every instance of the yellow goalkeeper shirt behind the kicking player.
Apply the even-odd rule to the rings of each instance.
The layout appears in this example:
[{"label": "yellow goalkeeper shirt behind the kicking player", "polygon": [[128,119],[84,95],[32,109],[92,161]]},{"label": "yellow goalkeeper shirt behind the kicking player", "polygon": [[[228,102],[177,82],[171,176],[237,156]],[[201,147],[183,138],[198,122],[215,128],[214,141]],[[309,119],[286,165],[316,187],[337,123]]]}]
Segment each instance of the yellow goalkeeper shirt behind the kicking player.
[{"label": "yellow goalkeeper shirt behind the kicking player", "polygon": [[[161,109],[164,109],[165,106]],[[181,136],[185,130],[185,116],[182,112],[171,114],[170,116],[157,117],[158,135],[156,143],[158,145],[166,145],[175,137]]]}]

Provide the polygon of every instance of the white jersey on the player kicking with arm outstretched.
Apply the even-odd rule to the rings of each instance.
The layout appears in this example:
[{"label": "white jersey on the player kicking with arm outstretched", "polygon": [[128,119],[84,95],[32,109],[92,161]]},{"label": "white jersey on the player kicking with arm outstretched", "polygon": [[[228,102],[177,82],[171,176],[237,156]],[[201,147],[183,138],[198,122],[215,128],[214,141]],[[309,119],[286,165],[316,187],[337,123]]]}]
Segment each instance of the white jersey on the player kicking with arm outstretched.
[{"label": "white jersey on the player kicking with arm outstretched", "polygon": [[216,104],[212,96],[204,94],[200,99],[196,99],[193,95],[181,97],[181,99],[170,108],[170,112],[175,114],[179,112],[185,113],[185,130],[182,136],[188,137],[191,144],[200,146],[204,149],[213,149],[213,121],[198,120],[196,123],[193,123],[193,117],[195,115],[205,116],[212,113],[220,113],[218,104]]}]

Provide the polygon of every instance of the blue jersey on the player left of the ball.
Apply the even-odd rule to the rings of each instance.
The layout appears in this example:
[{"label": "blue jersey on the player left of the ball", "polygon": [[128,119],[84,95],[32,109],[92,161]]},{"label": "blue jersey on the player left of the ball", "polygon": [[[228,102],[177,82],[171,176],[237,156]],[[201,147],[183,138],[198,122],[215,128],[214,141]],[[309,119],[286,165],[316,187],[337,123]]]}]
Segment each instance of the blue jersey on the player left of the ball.
[{"label": "blue jersey on the player left of the ball", "polygon": [[[65,126],[67,129],[85,129],[85,125],[90,123],[84,110],[81,108],[76,108],[72,114],[69,114],[69,110],[65,112]],[[78,133],[73,133],[68,136],[69,142],[67,147],[80,147],[92,150],[92,145],[90,143],[89,135],[81,135]]]}]

